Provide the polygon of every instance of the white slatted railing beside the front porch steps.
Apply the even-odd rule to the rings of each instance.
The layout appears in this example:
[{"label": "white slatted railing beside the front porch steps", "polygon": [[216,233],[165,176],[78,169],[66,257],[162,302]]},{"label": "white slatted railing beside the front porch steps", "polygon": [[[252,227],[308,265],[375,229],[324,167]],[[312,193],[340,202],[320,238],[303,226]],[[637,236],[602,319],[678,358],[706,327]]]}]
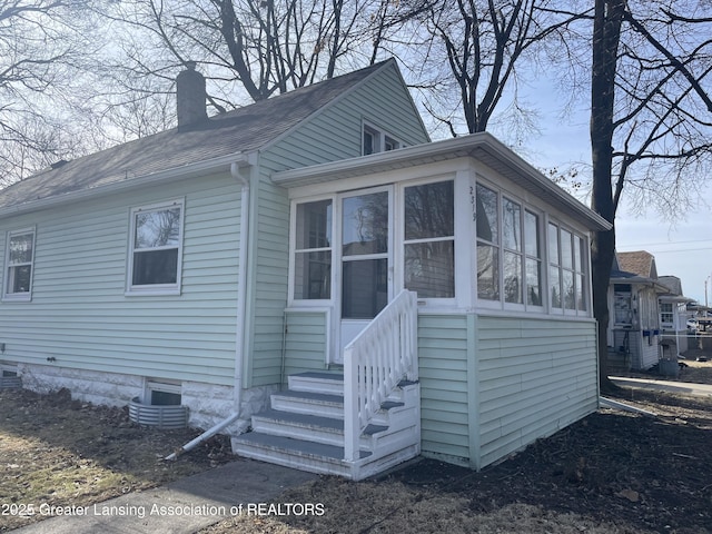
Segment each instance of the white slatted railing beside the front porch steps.
[{"label": "white slatted railing beside the front porch steps", "polygon": [[344,349],[344,457],[359,458],[362,433],[403,379],[418,379],[417,298],[404,289]]}]

